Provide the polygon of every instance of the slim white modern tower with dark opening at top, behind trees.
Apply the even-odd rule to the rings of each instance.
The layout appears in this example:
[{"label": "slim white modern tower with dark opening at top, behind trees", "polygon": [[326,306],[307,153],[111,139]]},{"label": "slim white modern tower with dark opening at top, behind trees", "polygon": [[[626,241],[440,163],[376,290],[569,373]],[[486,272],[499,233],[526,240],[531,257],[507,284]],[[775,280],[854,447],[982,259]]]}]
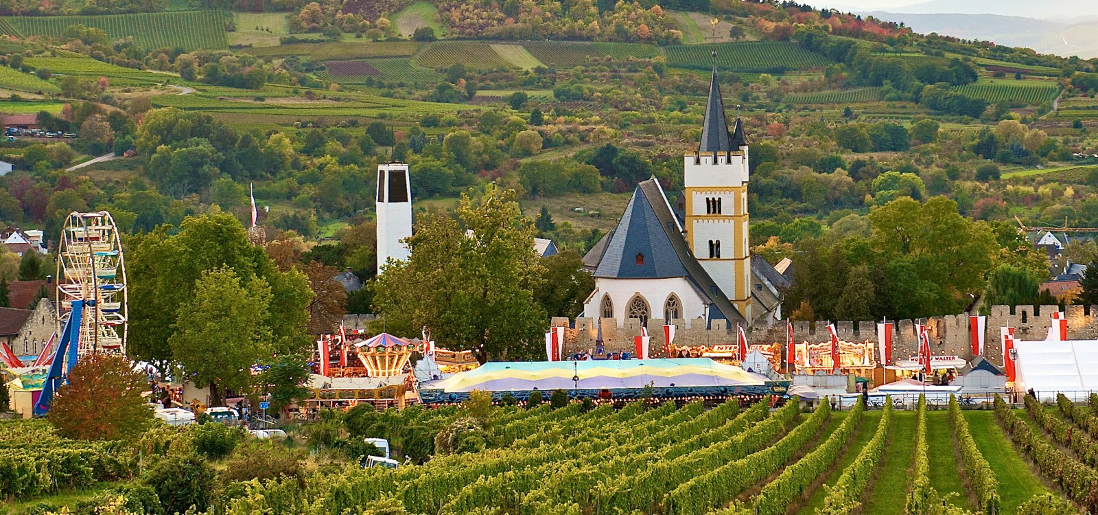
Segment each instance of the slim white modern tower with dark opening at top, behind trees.
[{"label": "slim white modern tower with dark opening at top, behind trees", "polygon": [[408,166],[403,163],[378,165],[378,273],[393,258],[407,259],[410,250],[401,242],[412,236],[412,187]]}]

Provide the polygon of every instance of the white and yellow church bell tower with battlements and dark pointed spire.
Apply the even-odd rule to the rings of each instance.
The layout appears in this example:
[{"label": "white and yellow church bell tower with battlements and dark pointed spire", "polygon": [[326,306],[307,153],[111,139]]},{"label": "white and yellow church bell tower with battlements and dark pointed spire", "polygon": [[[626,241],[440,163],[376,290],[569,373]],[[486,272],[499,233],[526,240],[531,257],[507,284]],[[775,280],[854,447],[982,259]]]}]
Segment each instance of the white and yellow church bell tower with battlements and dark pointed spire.
[{"label": "white and yellow church bell tower with battlements and dark pointed spire", "polygon": [[686,242],[721,293],[750,323],[748,139],[738,113],[732,131],[728,130],[716,52],[702,143],[684,158],[683,184]]}]

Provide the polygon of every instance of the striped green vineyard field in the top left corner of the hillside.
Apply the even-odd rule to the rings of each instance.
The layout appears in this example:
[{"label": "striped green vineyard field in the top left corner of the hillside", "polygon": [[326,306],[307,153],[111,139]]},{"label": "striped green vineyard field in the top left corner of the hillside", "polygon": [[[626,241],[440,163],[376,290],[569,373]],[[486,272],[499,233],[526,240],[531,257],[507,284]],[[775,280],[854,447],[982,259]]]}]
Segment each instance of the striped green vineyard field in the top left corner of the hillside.
[{"label": "striped green vineyard field in the top left corner of the hillside", "polygon": [[142,48],[182,47],[187,51],[228,47],[225,13],[180,11],[96,16],[11,16],[5,19],[24,36],[59,37],[65,27],[83,24],[102,29],[112,40],[133,37]]}]

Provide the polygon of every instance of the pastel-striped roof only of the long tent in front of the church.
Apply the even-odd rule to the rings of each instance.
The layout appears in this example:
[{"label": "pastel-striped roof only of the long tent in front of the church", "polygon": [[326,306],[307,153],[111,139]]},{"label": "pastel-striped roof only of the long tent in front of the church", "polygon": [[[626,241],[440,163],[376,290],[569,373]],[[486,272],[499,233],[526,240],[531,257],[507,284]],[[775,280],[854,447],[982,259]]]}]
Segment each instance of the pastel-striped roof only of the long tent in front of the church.
[{"label": "pastel-striped roof only of the long tent in front of the church", "polygon": [[[573,381],[572,377],[579,377]],[[708,358],[490,362],[439,381],[445,392],[762,387],[739,367]]]}]

